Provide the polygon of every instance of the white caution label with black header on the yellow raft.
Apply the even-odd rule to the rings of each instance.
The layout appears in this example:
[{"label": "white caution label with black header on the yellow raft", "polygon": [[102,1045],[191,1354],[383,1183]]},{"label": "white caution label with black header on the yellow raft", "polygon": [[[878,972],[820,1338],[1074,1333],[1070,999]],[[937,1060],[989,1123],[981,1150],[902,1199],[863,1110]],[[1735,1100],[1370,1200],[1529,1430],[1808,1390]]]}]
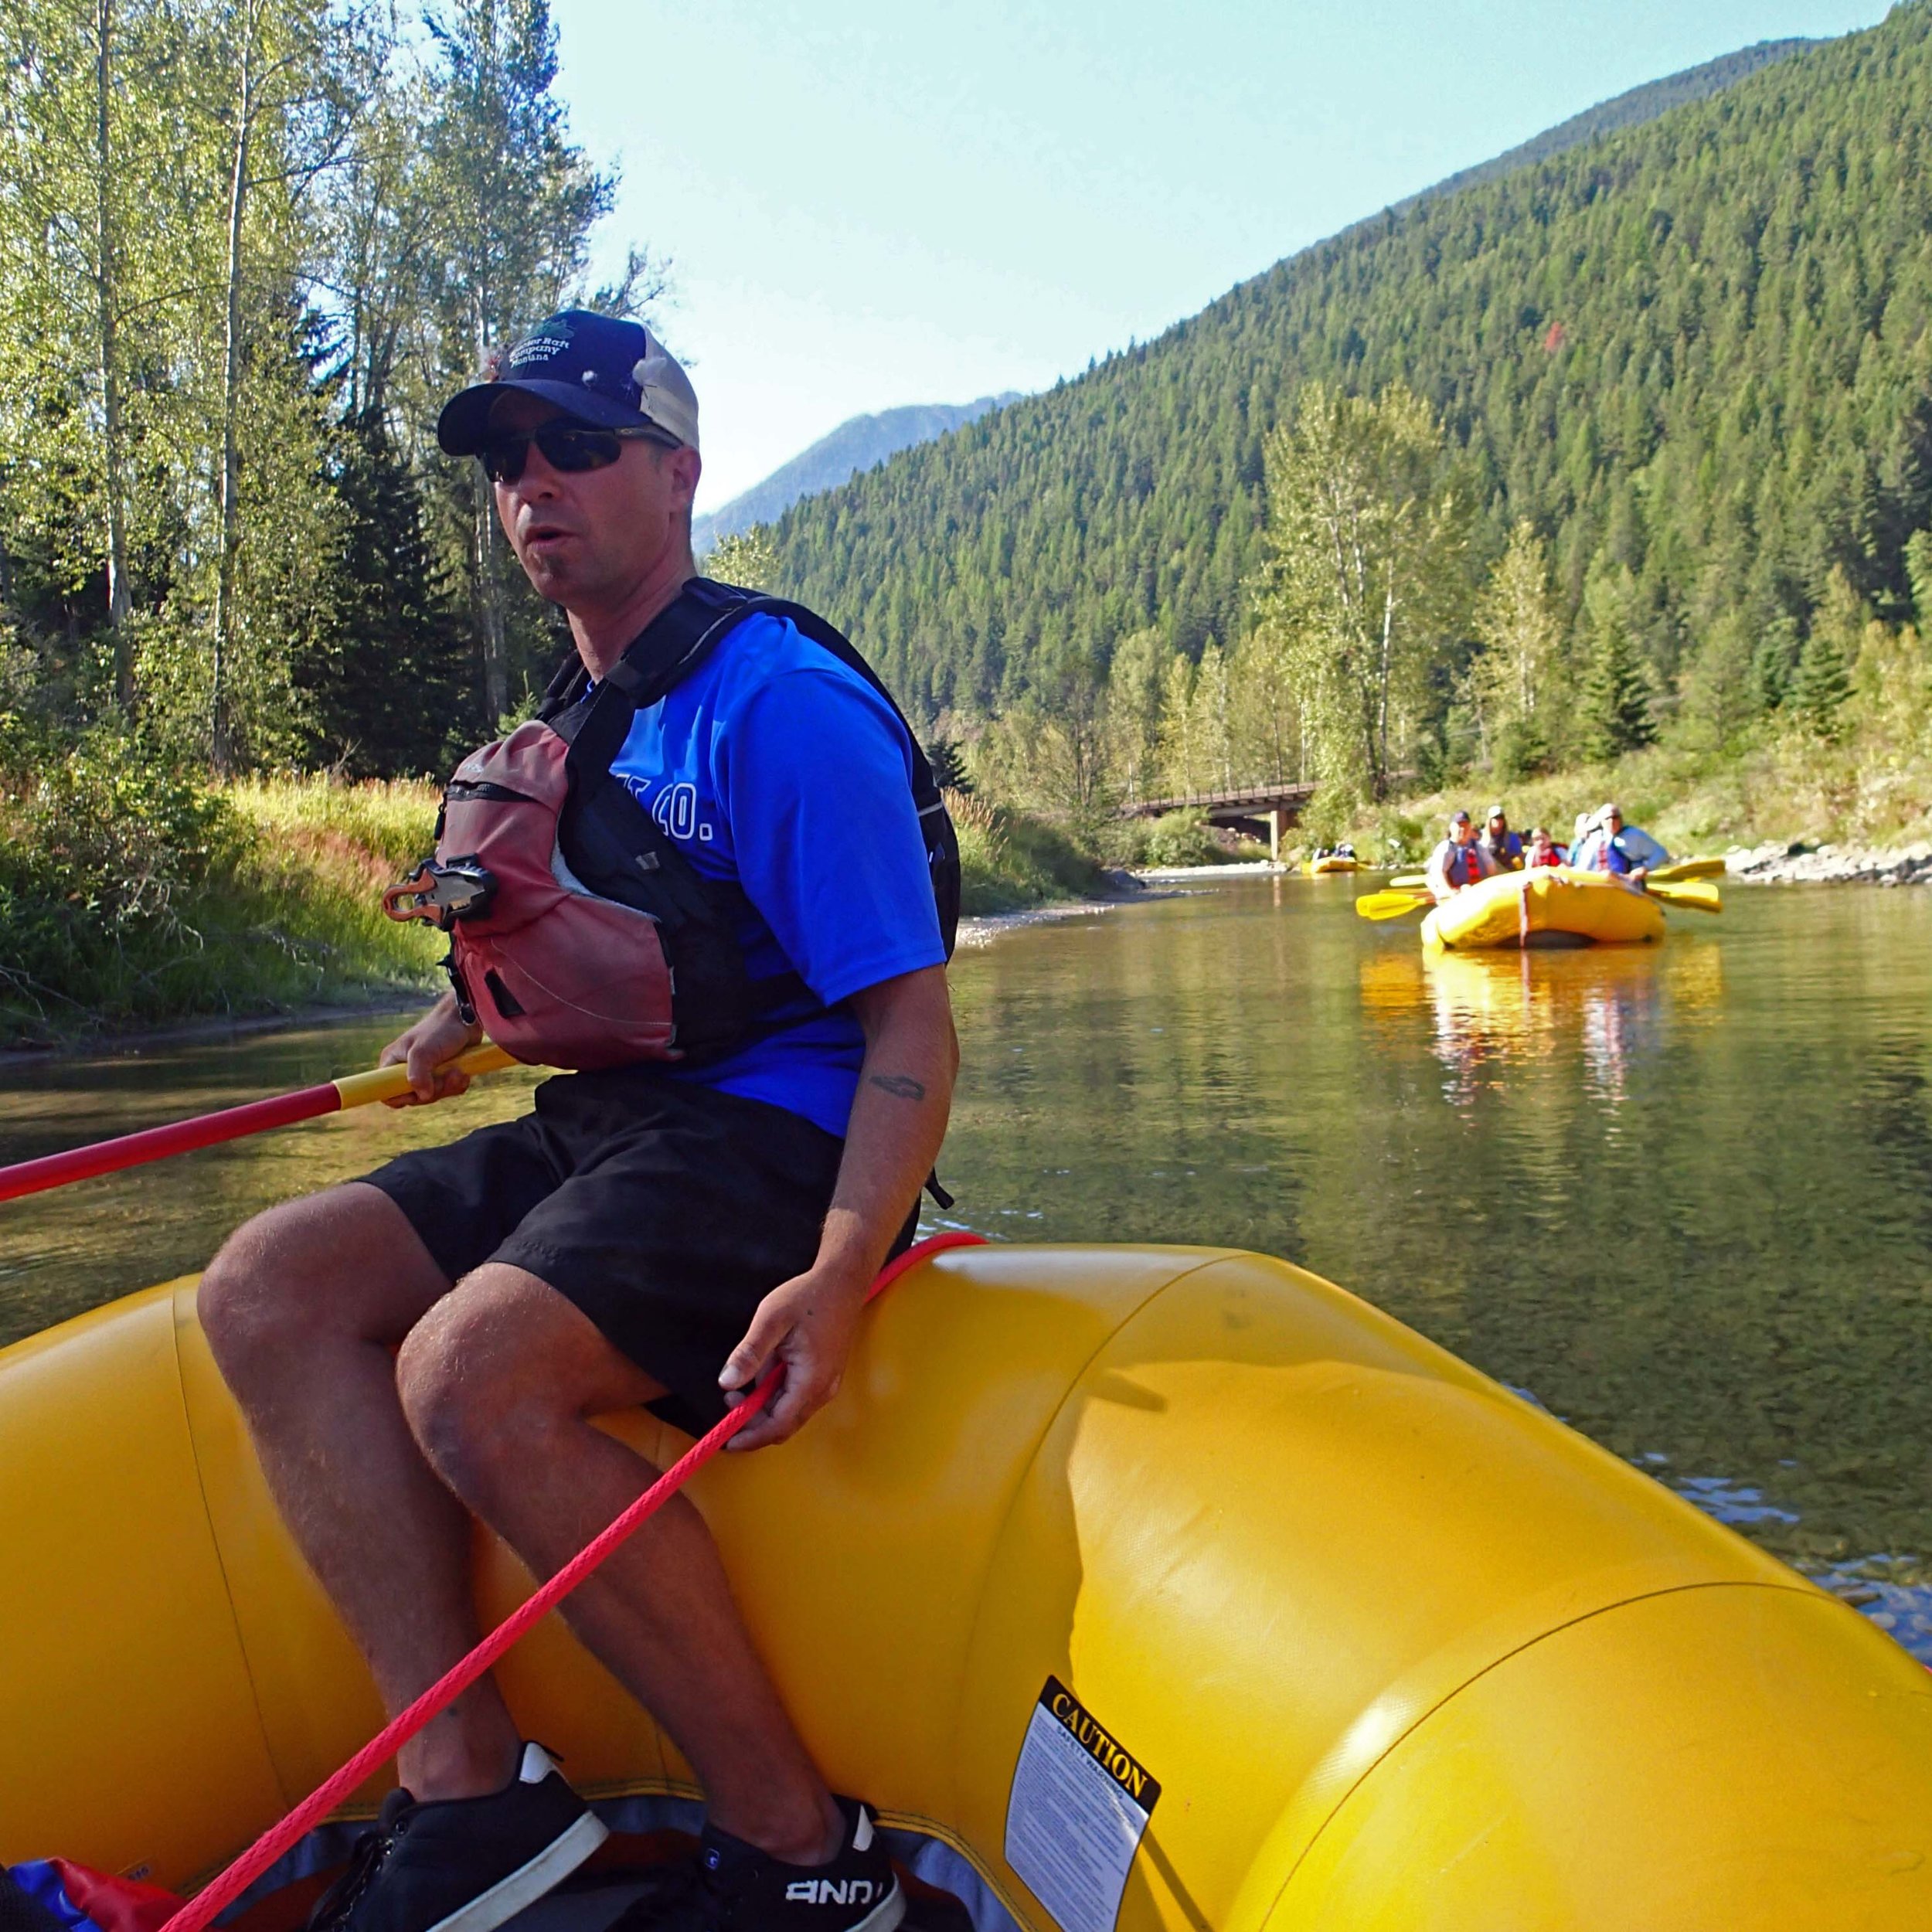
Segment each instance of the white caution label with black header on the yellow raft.
[{"label": "white caution label with black header on the yellow raft", "polygon": [[1012,1770],[1007,1864],[1063,1932],[1113,1932],[1159,1795],[1159,1779],[1049,1677]]}]

